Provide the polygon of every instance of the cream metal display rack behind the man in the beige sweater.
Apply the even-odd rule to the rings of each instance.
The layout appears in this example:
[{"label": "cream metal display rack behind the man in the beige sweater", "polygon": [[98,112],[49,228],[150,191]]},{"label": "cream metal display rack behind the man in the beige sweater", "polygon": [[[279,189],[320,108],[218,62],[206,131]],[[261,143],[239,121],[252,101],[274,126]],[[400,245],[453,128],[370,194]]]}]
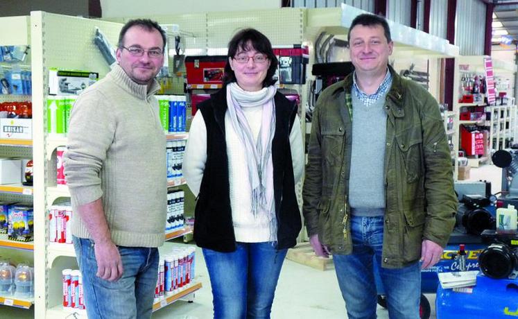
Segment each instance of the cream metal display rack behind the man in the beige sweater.
[{"label": "cream metal display rack behind the man in the beige sweater", "polygon": [[[86,318],[85,311],[64,309],[61,305],[61,271],[64,268],[77,267],[74,246],[66,243],[49,243],[46,234],[49,227],[47,218],[49,207],[70,197],[66,185],[57,185],[55,180],[56,148],[66,145],[67,139],[64,136],[49,136],[46,133],[48,73],[51,67],[94,70],[102,78],[110,71],[110,67],[93,42],[95,29],[99,28],[112,44],[116,44],[122,24],[40,11],[31,12],[30,19],[33,35],[31,37],[35,137],[33,148],[36,180],[31,189],[31,192],[34,192],[36,225],[33,244],[37,257],[35,258],[35,311],[41,318],[65,318],[73,313],[76,318]],[[67,49],[64,49],[64,46]],[[188,136],[187,133],[169,134],[166,135],[166,139],[187,139]],[[184,184],[185,180],[179,179],[169,182],[168,187],[181,187]],[[17,188],[15,191],[23,192],[23,189]],[[191,227],[183,227],[166,234],[166,238],[173,239],[191,232]],[[193,291],[200,288],[198,284],[193,286]],[[169,298],[166,300],[166,304],[183,297],[184,295],[173,295],[171,300]]]}]

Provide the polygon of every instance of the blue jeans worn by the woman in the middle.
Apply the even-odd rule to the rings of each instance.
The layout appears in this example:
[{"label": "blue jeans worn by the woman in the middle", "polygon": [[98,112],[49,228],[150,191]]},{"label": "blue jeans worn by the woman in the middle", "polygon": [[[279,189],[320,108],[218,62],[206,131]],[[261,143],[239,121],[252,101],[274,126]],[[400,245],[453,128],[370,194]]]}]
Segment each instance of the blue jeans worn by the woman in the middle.
[{"label": "blue jeans worn by the woman in the middle", "polygon": [[203,249],[214,318],[270,318],[275,287],[288,250],[271,243],[237,243],[235,252]]}]

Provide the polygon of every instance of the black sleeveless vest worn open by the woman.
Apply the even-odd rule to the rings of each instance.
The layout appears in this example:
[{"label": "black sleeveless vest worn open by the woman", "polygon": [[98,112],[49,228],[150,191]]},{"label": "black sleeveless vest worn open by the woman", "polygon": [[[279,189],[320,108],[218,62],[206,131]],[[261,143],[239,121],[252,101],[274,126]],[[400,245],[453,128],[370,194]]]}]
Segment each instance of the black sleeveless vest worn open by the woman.
[{"label": "black sleeveless vest worn open by the woman", "polygon": [[[207,128],[207,162],[196,202],[194,240],[202,248],[218,252],[236,250],[236,236],[230,207],[227,144],[225,141],[226,88],[198,105]],[[277,216],[277,249],[291,248],[302,228],[295,196],[290,132],[296,106],[277,92],[275,135],[272,141],[273,190]],[[196,134],[196,132],[191,132]]]}]

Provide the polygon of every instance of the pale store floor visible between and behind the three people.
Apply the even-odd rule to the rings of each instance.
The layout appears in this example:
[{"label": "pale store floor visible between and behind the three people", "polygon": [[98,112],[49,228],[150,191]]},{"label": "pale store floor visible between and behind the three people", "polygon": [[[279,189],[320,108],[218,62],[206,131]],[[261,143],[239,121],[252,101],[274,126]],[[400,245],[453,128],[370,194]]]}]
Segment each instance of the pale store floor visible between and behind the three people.
[{"label": "pale store floor visible between and behind the three people", "polygon": [[[469,180],[492,182],[492,192],[501,189],[501,169],[494,165],[472,168]],[[212,295],[209,275],[200,250],[196,250],[196,270],[203,288],[196,292],[192,303],[176,302],[153,314],[153,319],[206,319],[212,318]],[[435,294],[427,294],[431,304],[431,318],[435,318]],[[388,318],[388,312],[378,307],[378,318]],[[297,319],[343,319],[347,318],[345,306],[336,282],[334,270],[316,270],[284,261],[275,293],[271,317]]]}]

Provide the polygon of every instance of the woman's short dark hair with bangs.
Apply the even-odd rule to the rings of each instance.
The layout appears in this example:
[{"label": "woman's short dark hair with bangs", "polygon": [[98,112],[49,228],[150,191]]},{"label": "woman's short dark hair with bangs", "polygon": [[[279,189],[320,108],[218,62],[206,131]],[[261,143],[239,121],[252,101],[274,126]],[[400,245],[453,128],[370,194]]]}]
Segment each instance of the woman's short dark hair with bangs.
[{"label": "woman's short dark hair with bangs", "polygon": [[[269,87],[270,85],[274,85],[277,80],[273,78],[275,75],[275,71],[277,70],[277,56],[273,53],[272,44],[268,37],[263,33],[253,29],[246,28],[234,35],[230,42],[228,42],[228,53],[227,58],[234,58],[237,51],[241,49],[242,51],[250,51],[251,49],[255,49],[257,52],[263,53],[266,55],[268,60],[270,60],[270,67],[266,72],[266,78],[263,81],[263,87]],[[236,74],[232,71],[230,67],[230,62],[227,59],[227,64],[225,65],[225,76],[223,76],[223,83],[225,85],[236,82]]]}]

